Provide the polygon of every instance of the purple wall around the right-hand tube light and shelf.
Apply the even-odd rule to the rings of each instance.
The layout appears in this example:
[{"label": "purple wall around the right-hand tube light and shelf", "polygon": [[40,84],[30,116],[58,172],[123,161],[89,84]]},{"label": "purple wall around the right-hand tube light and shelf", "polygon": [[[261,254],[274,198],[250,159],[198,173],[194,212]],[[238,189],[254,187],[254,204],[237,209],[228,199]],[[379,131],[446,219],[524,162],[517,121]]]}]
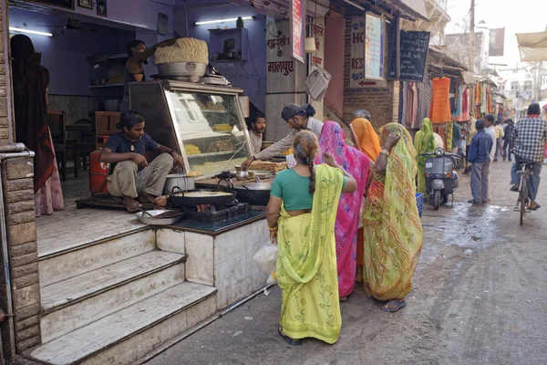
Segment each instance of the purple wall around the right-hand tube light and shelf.
[{"label": "purple wall around the right-hand tube light and shelf", "polygon": [[[220,25],[195,26],[195,22],[207,21],[222,18],[236,18],[238,16],[256,16],[256,20],[246,20],[245,28],[248,34],[248,45],[250,48],[247,62],[213,63],[213,66],[228,78],[234,87],[244,90],[251,102],[259,110],[265,110],[264,102],[266,95],[266,18],[257,15],[252,9],[232,5],[227,2],[205,0],[201,2],[189,1],[188,9],[188,34],[186,32],[185,12],[182,6],[174,10],[174,30],[180,36],[191,36],[202,39],[210,45],[210,32],[208,29],[216,27],[235,28],[235,22]],[[222,49],[209,50],[209,57]]]}]

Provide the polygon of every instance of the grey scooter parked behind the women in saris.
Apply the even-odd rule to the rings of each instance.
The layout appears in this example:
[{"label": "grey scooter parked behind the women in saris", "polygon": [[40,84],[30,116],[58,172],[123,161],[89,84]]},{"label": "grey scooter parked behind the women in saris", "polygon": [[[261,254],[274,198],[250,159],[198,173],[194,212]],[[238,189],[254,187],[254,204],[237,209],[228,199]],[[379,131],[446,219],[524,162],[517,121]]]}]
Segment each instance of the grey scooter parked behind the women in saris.
[{"label": "grey scooter parked behind the women in saris", "polygon": [[440,203],[448,203],[448,196],[452,197],[451,206],[454,206],[454,190],[458,188],[459,176],[456,172],[459,155],[447,153],[438,147],[435,152],[422,153],[429,156],[426,160],[426,190],[429,192],[428,203],[433,209],[439,210]]}]

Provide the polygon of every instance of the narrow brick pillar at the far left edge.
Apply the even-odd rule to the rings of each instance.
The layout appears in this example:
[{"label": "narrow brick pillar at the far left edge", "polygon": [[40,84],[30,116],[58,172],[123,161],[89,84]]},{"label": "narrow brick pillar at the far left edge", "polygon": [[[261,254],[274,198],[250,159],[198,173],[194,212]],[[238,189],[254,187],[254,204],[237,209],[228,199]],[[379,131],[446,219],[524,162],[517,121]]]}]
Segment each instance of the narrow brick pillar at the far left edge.
[{"label": "narrow brick pillar at the far left edge", "polygon": [[[0,145],[14,141],[11,77],[9,73],[9,31],[7,6],[0,2]],[[10,280],[17,353],[40,343],[40,287],[34,213],[32,159],[7,159],[1,166]],[[0,255],[1,260],[1,255]],[[0,270],[1,284],[5,284]],[[4,283],[2,283],[4,282]],[[0,308],[6,309],[5,285],[0,284]],[[8,321],[0,323],[5,356],[13,358],[9,345]]]}]

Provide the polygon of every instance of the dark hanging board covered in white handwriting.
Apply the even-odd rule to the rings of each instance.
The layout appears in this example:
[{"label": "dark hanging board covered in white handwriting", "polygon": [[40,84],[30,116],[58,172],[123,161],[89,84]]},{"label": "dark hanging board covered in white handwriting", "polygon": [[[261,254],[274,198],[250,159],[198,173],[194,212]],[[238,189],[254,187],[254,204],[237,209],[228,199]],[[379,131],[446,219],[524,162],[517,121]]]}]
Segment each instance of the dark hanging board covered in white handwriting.
[{"label": "dark hanging board covered in white handwriting", "polygon": [[429,32],[401,30],[400,37],[399,79],[422,82],[428,59]]}]

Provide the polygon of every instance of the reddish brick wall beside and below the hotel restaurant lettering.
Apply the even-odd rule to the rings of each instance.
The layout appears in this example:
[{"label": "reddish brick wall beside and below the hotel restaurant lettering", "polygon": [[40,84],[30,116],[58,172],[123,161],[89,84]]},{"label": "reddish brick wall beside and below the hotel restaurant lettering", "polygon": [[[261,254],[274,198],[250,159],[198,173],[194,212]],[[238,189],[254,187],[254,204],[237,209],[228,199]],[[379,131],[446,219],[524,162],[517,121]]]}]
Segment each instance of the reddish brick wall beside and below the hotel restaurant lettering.
[{"label": "reddish brick wall beside and below the hotel restaurant lettering", "polygon": [[346,18],[344,57],[344,121],[351,122],[355,110],[370,112],[371,122],[377,130],[384,124],[398,120],[398,82],[387,81],[384,88],[349,89],[351,57],[351,19]]}]

